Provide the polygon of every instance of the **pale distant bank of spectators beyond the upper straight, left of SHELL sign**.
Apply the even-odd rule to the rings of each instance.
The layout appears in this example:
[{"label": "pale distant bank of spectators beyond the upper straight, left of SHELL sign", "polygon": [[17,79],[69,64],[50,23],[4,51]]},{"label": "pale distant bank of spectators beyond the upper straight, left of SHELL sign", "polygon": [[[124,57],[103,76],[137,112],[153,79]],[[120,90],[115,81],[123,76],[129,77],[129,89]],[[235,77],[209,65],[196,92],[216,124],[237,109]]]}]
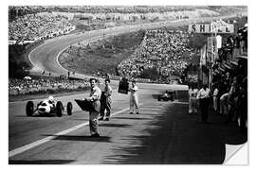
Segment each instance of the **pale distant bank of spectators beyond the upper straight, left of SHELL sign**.
[{"label": "pale distant bank of spectators beyond the upper straight, left of SHELL sign", "polygon": [[[111,8],[108,8],[111,9]],[[148,12],[80,12],[75,13],[74,18],[79,18],[84,21],[83,24],[99,24],[104,23],[106,26],[119,26],[122,22],[124,24],[132,23],[145,23],[145,22],[156,22],[156,21],[170,21],[170,20],[181,20],[181,19],[192,19],[198,17],[212,17],[218,16],[219,13],[211,11],[209,9],[194,9],[194,10],[166,10],[165,12],[148,11]]]}]

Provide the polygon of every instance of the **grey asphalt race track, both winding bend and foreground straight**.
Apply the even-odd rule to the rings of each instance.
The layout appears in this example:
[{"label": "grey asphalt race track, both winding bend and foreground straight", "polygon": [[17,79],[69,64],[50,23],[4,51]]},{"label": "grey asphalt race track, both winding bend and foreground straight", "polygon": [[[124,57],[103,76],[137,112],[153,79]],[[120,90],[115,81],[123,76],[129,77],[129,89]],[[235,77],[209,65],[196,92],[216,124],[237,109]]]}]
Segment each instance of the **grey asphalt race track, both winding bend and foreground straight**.
[{"label": "grey asphalt race track, both winding bend and foreground straight", "polygon": [[[206,20],[212,20],[208,18]],[[204,20],[204,21],[206,21]],[[200,19],[199,21],[202,21]],[[34,74],[43,70],[52,75],[66,75],[58,63],[58,55],[68,45],[87,40],[95,41],[105,36],[117,35],[140,28],[184,25],[190,22],[165,22],[143,26],[122,26],[96,30],[47,40],[34,49],[29,56]],[[76,77],[84,77],[76,74]],[[117,81],[112,82],[113,86]],[[74,102],[88,93],[57,97],[64,105],[73,104],[73,114],[63,117],[34,115],[27,117],[27,101],[9,102],[9,163],[10,164],[87,164],[87,163],[174,163],[170,152],[172,133],[163,130],[174,126],[174,117],[187,111],[187,86],[163,84],[137,84],[139,88],[140,114],[129,114],[129,95],[113,93],[112,117],[100,122],[99,138],[91,138],[88,113],[80,110]],[[158,102],[159,91],[173,89],[180,93],[174,102]],[[36,104],[39,100],[34,100]],[[170,111],[170,107],[171,110]],[[169,129],[169,128],[168,128]],[[224,151],[225,152],[225,151]],[[223,152],[217,153],[216,161],[223,161]],[[186,162],[186,161],[185,161]],[[207,161],[208,162],[208,161]]]}]

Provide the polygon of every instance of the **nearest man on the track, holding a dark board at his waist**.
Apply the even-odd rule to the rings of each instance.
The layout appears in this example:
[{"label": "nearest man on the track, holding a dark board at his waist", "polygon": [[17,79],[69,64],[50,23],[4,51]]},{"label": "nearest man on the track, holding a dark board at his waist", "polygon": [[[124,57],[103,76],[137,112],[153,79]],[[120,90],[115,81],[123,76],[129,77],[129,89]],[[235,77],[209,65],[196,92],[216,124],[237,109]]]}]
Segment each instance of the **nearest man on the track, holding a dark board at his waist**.
[{"label": "nearest man on the track, holding a dark board at his waist", "polygon": [[91,93],[90,96],[85,98],[87,101],[92,102],[94,110],[89,112],[89,126],[92,137],[99,137],[98,132],[98,117],[101,110],[101,89],[97,86],[97,79],[90,78]]}]

